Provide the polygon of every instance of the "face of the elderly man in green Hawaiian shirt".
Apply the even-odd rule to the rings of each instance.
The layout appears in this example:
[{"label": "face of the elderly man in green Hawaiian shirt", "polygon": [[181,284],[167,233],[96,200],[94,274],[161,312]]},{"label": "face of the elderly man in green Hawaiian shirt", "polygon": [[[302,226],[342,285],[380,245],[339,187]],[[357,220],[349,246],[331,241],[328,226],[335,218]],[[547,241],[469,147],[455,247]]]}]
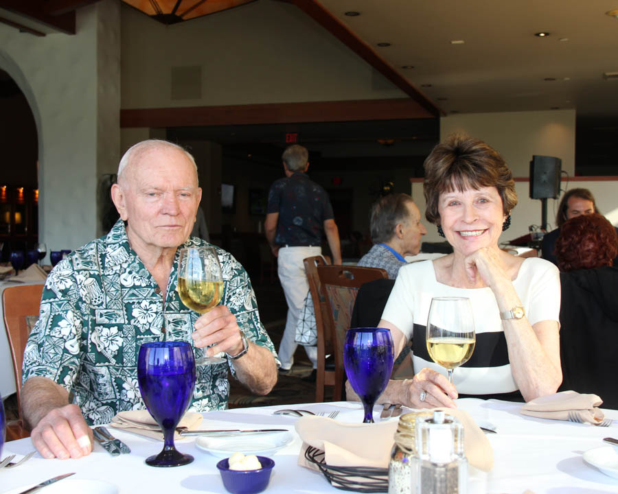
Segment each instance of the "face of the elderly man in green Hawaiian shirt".
[{"label": "face of the elderly man in green Hawaiian shirt", "polygon": [[202,190],[183,152],[161,146],[138,155],[119,188],[117,207],[136,252],[176,248],[189,237]]}]

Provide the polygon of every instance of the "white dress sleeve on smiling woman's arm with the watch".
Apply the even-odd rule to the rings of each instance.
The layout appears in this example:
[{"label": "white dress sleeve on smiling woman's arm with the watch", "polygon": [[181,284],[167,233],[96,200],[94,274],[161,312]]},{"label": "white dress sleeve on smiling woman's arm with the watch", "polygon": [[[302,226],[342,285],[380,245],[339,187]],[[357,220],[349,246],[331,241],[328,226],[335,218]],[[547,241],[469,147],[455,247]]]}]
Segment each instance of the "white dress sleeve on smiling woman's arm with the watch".
[{"label": "white dress sleeve on smiling woman's arm with the watch", "polygon": [[534,259],[531,270],[530,305],[527,318],[531,325],[543,320],[555,320],[560,327],[560,272],[545,259]]}]

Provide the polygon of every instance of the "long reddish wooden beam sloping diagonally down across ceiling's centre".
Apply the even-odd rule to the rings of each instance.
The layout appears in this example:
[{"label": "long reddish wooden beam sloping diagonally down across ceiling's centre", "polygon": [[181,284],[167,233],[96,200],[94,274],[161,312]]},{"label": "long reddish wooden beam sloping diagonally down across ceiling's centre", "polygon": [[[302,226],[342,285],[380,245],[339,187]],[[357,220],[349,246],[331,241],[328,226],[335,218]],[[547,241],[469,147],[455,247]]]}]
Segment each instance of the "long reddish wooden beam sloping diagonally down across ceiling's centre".
[{"label": "long reddish wooden beam sloping diagonally down across ceiling's centre", "polygon": [[358,38],[344,23],[339,21],[333,14],[317,0],[279,0],[285,3],[296,5],[297,8],[305,12],[314,21],[330,32],[335,38],[339,39],[344,45],[352,49],[354,53],[363,58],[371,67],[385,76],[399,89],[411,97],[423,108],[431,112],[435,117],[441,115],[441,110],[423,93],[410,84],[406,78],[402,77],[398,71],[374,51],[365,41]]}]

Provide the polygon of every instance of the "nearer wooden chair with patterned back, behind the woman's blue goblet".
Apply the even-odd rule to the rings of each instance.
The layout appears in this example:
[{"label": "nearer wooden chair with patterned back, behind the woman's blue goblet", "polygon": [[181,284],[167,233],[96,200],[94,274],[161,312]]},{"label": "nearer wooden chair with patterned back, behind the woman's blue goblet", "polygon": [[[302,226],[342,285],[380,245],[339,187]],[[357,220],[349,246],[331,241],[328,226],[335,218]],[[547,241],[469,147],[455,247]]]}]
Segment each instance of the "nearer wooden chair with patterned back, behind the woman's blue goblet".
[{"label": "nearer wooden chair with patterned back, behind the woman's blue goblet", "polygon": [[[345,377],[343,369],[343,340],[346,331],[350,329],[350,320],[352,319],[352,310],[354,309],[358,289],[368,281],[387,279],[389,275],[386,270],[381,268],[359,268],[358,266],[317,266],[317,274],[325,298],[325,305],[328,308],[326,318],[329,322],[324,327],[329,328],[330,349],[334,355],[335,368],[332,371],[334,379],[333,399],[339,401],[343,399],[343,380]],[[324,355],[320,353],[318,338],[318,365],[324,360]],[[319,376],[318,371],[316,401],[323,401],[323,389],[320,390]],[[322,399],[319,399],[319,396]]]}]

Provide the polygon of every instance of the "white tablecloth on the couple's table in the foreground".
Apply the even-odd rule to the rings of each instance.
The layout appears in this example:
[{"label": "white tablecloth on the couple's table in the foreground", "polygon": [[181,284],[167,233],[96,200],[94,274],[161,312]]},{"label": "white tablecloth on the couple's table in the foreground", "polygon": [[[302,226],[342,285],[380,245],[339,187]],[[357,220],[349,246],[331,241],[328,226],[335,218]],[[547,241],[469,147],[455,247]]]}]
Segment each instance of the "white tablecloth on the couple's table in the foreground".
[{"label": "white tablecloth on the couple's table in the foreground", "polygon": [[[455,403],[457,408],[466,410],[478,425],[494,428],[496,431],[495,434],[486,436],[493,449],[494,466],[487,473],[470,468],[468,493],[618,492],[618,478],[602,473],[583,458],[584,452],[591,449],[607,447],[608,451],[613,451],[612,446],[604,446],[602,439],[607,436],[618,436],[618,410],[602,410],[607,419],[613,419],[613,423],[607,427],[599,427],[588,423],[525,416],[520,413],[522,403],[472,398],[458,399]],[[331,486],[319,471],[299,466],[302,441],[295,432],[295,422],[298,419],[273,414],[275,410],[282,408],[310,410],[314,413],[338,411],[339,414],[332,420],[346,423],[363,421],[361,403],[339,401],[207,412],[203,414],[199,428],[275,427],[289,430],[290,442],[269,455],[275,461],[275,467],[265,492],[272,494],[341,492]],[[376,422],[398,420],[398,417],[380,419],[381,411],[382,406],[376,405],[374,408]],[[404,408],[403,412],[409,410]],[[372,425],[367,424],[367,427]],[[71,472],[75,475],[57,484],[60,487],[61,483],[64,483],[62,492],[88,490],[93,493],[120,494],[226,492],[216,468],[220,456],[215,456],[199,447],[196,438],[187,437],[176,441],[176,448],[183,453],[192,454],[194,462],[183,467],[153,468],[146,465],[144,460],[160,451],[161,441],[114,427],[108,427],[108,430],[130,447],[130,454],[111,456],[99,444],[94,445],[89,456],[76,460],[45,460],[36,454],[19,467],[0,469],[0,493],[19,493],[28,486]],[[371,445],[366,447],[369,448]],[[15,440],[5,444],[3,456],[16,454],[18,459],[32,449],[30,438]],[[84,487],[89,485],[87,482],[91,482],[92,489]],[[95,489],[95,486],[99,487]],[[107,486],[108,489],[98,490],[100,486]]]}]

